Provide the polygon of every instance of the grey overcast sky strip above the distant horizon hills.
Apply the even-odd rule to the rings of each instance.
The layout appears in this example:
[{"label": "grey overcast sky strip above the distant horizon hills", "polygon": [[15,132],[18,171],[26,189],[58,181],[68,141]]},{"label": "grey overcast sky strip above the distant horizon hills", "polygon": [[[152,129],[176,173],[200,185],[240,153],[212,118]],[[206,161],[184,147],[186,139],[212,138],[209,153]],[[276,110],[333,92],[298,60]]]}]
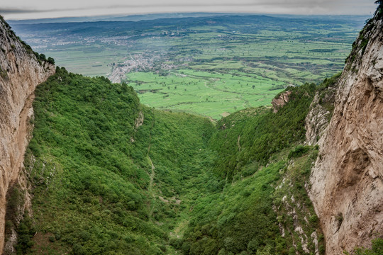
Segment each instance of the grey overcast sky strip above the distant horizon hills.
[{"label": "grey overcast sky strip above the distant horizon hills", "polygon": [[6,19],[110,14],[231,12],[372,15],[375,0],[7,0]]}]

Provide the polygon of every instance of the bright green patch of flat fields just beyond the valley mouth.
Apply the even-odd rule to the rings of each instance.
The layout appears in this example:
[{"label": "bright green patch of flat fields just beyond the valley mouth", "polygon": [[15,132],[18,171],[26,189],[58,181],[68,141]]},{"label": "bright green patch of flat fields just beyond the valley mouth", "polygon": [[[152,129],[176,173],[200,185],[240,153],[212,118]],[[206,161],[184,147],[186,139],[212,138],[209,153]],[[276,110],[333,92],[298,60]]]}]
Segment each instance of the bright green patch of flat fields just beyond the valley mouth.
[{"label": "bright green patch of flat fields just beyond the valley mouth", "polygon": [[[128,84],[143,103],[159,109],[172,109],[210,116],[213,119],[252,106],[265,106],[282,89],[280,81],[253,74],[219,74],[190,69],[167,76],[151,72],[127,74]],[[282,86],[283,88],[283,86]]]}]

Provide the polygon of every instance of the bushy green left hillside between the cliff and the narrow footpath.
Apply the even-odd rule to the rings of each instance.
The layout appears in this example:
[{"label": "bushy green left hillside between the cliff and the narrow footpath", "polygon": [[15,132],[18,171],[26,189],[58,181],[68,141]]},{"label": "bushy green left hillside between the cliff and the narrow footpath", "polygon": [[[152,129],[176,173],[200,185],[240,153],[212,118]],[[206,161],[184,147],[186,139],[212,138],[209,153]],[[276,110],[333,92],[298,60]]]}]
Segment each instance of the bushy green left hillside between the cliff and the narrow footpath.
[{"label": "bushy green left hillside between the cliff and the narrow footpath", "polygon": [[[26,156],[42,233],[35,250],[134,254],[152,248],[143,233],[149,239],[165,235],[147,220],[141,187],[148,186],[148,175],[127,157],[139,104],[123,91],[131,88],[65,69],[38,87],[37,121]],[[41,247],[50,237],[52,244]]]}]

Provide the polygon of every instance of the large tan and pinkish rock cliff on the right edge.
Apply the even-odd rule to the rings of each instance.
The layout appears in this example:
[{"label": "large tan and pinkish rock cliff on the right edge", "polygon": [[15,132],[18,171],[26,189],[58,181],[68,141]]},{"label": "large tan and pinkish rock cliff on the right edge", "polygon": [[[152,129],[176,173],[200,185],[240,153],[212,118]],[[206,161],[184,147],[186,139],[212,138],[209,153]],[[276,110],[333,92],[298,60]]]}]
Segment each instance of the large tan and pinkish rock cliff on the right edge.
[{"label": "large tan and pinkish rock cliff on the right edge", "polygon": [[326,254],[369,246],[383,234],[382,78],[383,21],[375,17],[353,45],[311,170]]}]

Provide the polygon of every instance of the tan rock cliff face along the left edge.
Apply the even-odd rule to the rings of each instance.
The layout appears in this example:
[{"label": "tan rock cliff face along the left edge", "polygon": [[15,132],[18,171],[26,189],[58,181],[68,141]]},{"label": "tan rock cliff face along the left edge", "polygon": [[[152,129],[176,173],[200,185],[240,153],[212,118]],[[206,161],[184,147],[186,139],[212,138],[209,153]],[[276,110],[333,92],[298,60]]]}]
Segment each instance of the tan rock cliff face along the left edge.
[{"label": "tan rock cliff face along the left edge", "polygon": [[0,254],[4,246],[6,193],[18,181],[23,167],[33,91],[54,73],[55,66],[39,62],[0,18]]}]

